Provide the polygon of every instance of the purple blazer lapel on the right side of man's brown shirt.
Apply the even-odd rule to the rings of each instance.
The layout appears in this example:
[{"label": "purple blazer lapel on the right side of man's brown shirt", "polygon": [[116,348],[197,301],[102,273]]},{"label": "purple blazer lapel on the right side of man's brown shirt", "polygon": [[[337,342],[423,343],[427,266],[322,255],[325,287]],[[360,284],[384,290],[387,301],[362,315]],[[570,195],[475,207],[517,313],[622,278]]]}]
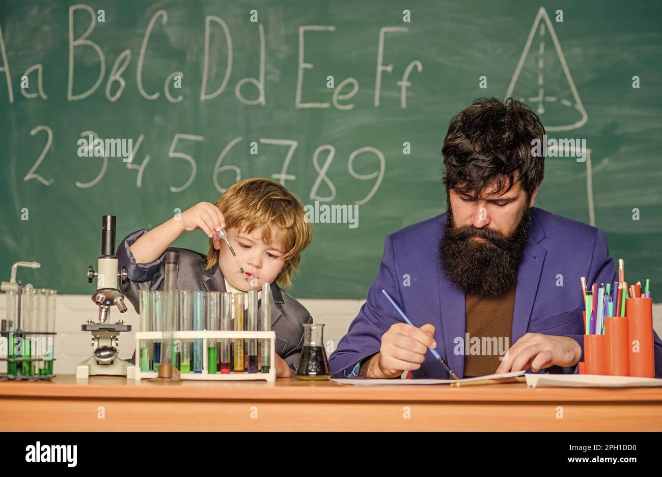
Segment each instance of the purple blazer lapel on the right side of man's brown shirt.
[{"label": "purple blazer lapel on the right side of man's brown shirt", "polygon": [[545,237],[542,223],[538,219],[536,209],[532,208],[532,219],[529,229],[529,241],[524,248],[524,257],[517,272],[517,286],[515,289],[515,307],[512,314],[512,344],[522,338],[529,327],[531,311],[536,301],[540,274],[545,262],[547,250],[538,242]]}]

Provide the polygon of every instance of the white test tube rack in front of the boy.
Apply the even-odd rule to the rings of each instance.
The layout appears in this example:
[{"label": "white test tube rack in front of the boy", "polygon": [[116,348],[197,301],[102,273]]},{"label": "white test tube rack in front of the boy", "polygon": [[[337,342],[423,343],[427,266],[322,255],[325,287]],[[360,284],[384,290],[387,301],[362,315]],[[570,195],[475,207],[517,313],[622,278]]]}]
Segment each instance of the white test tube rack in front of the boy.
[{"label": "white test tube rack in front of the boy", "polygon": [[[276,367],[275,363],[275,343],[276,343],[276,333],[274,331],[175,331],[172,332],[173,340],[203,340],[203,369],[201,373],[181,373],[179,378],[182,381],[267,381],[267,383],[273,383],[276,379]],[[135,379],[140,381],[141,379],[154,379],[158,377],[156,371],[140,371],[140,341],[144,340],[153,340],[160,341],[164,338],[164,332],[162,331],[140,331],[136,332],[136,365],[131,366],[127,369],[127,379]],[[269,373],[208,373],[209,369],[207,365],[207,340],[219,340],[222,338],[228,338],[230,340],[238,339],[256,339],[256,340],[271,340],[271,345],[269,346],[269,352],[271,356],[269,358]]]}]

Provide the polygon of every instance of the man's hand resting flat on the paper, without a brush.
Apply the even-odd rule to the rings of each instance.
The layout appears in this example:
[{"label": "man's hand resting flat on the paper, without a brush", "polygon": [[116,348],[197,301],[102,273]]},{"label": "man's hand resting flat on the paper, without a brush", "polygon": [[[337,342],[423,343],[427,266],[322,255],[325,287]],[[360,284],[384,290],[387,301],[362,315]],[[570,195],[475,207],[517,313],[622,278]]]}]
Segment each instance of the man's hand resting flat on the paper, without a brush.
[{"label": "man's hand resting flat on the paper, without a brush", "polygon": [[505,357],[496,374],[527,369],[538,373],[553,365],[576,365],[581,357],[581,347],[569,336],[527,333],[508,349]]}]

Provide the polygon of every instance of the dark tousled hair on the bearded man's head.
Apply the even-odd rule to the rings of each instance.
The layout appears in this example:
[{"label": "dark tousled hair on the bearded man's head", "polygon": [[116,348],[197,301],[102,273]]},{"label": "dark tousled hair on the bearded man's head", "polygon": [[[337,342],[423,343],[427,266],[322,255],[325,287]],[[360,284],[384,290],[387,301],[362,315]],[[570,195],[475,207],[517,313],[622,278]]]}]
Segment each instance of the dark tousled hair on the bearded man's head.
[{"label": "dark tousled hair on the bearded man's head", "polygon": [[519,180],[528,197],[542,182],[545,158],[532,155],[533,139],[545,128],[526,104],[508,98],[479,98],[457,113],[444,139],[446,194],[455,190],[473,199],[496,182],[497,193]]}]

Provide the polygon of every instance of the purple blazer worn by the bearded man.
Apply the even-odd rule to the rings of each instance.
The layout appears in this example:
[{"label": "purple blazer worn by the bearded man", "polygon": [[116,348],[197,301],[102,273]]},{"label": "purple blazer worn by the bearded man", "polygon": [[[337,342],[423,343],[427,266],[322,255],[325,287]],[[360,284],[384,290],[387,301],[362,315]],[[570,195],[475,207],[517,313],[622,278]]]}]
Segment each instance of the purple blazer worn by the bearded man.
[{"label": "purple blazer worn by the bearded man", "polygon": [[[329,357],[334,377],[348,377],[356,363],[377,353],[381,336],[401,316],[381,293],[385,289],[416,326],[434,325],[437,351],[458,377],[463,377],[464,355],[453,353],[455,338],[465,337],[465,295],[451,285],[439,263],[439,242],[446,213],[388,235],[379,274],[367,301]],[[409,275],[408,285],[406,276]],[[557,286],[563,275],[563,286]],[[585,223],[532,208],[529,240],[517,275],[510,346],[526,333],[569,336],[582,348],[584,360],[583,295],[580,277],[587,283],[618,280],[604,231]],[[627,275],[626,275],[627,279]],[[662,377],[662,342],[654,334],[655,377]],[[569,372],[577,371],[569,369]],[[413,378],[449,378],[428,353]]]}]

